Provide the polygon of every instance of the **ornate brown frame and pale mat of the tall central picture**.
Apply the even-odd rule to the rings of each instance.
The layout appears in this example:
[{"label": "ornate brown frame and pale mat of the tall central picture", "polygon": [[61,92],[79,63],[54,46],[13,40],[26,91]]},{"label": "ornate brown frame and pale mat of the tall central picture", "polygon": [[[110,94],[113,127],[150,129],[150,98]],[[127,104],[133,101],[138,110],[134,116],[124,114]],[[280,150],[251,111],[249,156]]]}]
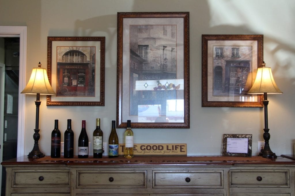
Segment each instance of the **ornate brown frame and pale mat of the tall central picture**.
[{"label": "ornate brown frame and pale mat of the tall central picture", "polygon": [[[137,21],[137,23],[132,23],[129,22],[127,23],[128,19],[132,19],[132,22],[134,20]],[[157,23],[157,21],[161,21],[162,23]],[[177,21],[177,23],[173,23],[174,21]],[[124,118],[128,118],[128,120],[131,119],[132,121],[132,127],[133,128],[189,128],[189,12],[118,12],[117,14],[117,22],[118,22],[118,33],[117,33],[117,127],[118,128],[125,128],[127,125],[127,119],[123,120]],[[164,26],[163,24],[168,24],[170,25],[173,23],[173,25],[178,25],[176,26],[179,29],[178,34],[176,36],[181,36],[180,39],[176,39],[177,43],[175,45],[181,46],[177,48],[177,53],[178,53],[178,61],[181,63],[178,63],[177,66],[177,73],[183,73],[183,97],[184,97],[184,122],[151,122],[151,123],[146,123],[146,122],[135,122],[135,120],[132,120],[132,116],[129,115],[129,111],[123,110],[122,107],[124,106],[125,108],[130,109],[130,99],[126,101],[127,103],[124,102],[123,98],[126,98],[126,95],[130,95],[130,83],[129,79],[131,76],[126,76],[123,74],[123,71],[128,70],[130,72],[130,54],[131,52],[131,42],[130,38],[133,38],[132,36],[129,36],[127,33],[124,34],[124,32],[130,30],[132,25],[141,25],[142,26],[152,26],[152,25],[161,25]],[[164,31],[164,30],[163,30]],[[132,32],[132,31],[130,31]],[[135,32],[135,31],[134,31]],[[123,43],[123,36],[126,35],[124,38],[124,43]],[[167,42],[169,43],[169,42]],[[163,44],[162,44],[163,45]],[[159,47],[162,47],[159,46]],[[164,54],[164,48],[163,46],[163,56],[161,57],[161,60],[167,61],[166,55]],[[134,53],[136,53],[135,51]],[[183,55],[179,55],[179,54]],[[134,54],[135,56],[139,56],[138,54]],[[123,60],[124,57],[124,60]],[[126,59],[129,59],[126,61]],[[160,59],[160,58],[159,58]],[[179,59],[183,59],[179,60]],[[177,62],[178,62],[177,61]],[[183,66],[182,66],[183,64]],[[130,69],[129,69],[130,68]],[[179,71],[179,72],[178,72]],[[181,72],[182,71],[182,72]],[[176,78],[178,79],[178,78]],[[182,79],[182,78],[181,78]],[[124,85],[123,85],[124,81]],[[128,81],[128,82],[126,82]],[[159,82],[160,83],[160,82]],[[159,84],[158,83],[158,84]],[[165,84],[165,83],[164,83]],[[155,86],[156,88],[157,86]],[[166,86],[167,87],[167,86]],[[154,88],[154,89],[155,89]],[[160,87],[159,87],[160,88]],[[165,87],[164,87],[165,88]],[[173,86],[174,88],[174,86]],[[176,87],[177,89],[177,84]],[[168,89],[168,87],[167,87]],[[172,89],[172,88],[171,88]],[[153,91],[153,89],[151,90]],[[163,89],[162,89],[163,91]],[[165,99],[165,98],[164,98]],[[138,99],[139,100],[139,99]],[[145,104],[143,104],[145,105]],[[148,105],[148,103],[146,103]],[[134,106],[135,107],[135,106]],[[138,107],[138,106],[137,106]],[[138,115],[138,114],[137,114]],[[127,117],[126,117],[127,116]],[[129,118],[130,117],[130,118]],[[139,121],[139,120],[138,120]]]}]

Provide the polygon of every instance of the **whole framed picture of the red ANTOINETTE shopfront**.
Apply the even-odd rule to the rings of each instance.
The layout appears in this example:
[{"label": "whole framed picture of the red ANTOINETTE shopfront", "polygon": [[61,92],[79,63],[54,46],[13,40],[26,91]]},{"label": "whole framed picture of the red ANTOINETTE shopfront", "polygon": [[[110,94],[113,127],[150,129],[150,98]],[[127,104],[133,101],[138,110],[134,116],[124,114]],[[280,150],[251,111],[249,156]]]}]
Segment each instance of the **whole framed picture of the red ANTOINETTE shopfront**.
[{"label": "whole framed picture of the red ANTOINETTE shopfront", "polygon": [[105,37],[47,37],[47,105],[104,106]]}]

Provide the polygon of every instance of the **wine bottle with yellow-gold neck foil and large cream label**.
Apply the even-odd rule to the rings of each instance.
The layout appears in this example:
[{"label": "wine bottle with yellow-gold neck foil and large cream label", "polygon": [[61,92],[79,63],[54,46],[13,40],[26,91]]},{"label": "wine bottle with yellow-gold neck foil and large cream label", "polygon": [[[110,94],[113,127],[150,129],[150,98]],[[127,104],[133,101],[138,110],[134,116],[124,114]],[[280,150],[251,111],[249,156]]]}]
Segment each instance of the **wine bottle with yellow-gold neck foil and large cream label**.
[{"label": "wine bottle with yellow-gold neck foil and large cream label", "polygon": [[96,118],[96,129],[93,131],[93,158],[102,158],[103,132],[100,129],[100,118]]}]

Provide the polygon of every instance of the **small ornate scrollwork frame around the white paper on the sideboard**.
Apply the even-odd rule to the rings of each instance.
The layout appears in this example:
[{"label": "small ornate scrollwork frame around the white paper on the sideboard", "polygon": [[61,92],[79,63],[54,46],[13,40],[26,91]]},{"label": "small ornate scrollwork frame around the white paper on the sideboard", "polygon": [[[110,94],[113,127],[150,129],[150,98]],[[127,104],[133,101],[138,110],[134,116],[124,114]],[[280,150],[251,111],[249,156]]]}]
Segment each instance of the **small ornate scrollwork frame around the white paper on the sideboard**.
[{"label": "small ornate scrollwork frame around the white paper on the sideboard", "polygon": [[[227,138],[248,138],[248,153],[227,152]],[[251,157],[252,156],[252,134],[223,134],[223,156]]]}]

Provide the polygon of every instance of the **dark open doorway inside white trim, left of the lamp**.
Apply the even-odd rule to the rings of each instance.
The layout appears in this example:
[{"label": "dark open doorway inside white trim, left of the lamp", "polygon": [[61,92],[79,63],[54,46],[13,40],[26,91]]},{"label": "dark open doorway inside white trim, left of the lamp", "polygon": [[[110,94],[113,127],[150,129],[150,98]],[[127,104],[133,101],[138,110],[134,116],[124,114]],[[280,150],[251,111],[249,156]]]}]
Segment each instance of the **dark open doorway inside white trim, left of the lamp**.
[{"label": "dark open doorway inside white trim, left of the lamp", "polygon": [[[17,157],[17,123],[19,95],[19,37],[4,40],[4,124],[2,138],[2,161]],[[1,91],[3,92],[3,91]],[[1,96],[3,98],[3,96]],[[3,102],[2,102],[3,103]],[[6,171],[2,170],[1,195],[5,195]]]}]

